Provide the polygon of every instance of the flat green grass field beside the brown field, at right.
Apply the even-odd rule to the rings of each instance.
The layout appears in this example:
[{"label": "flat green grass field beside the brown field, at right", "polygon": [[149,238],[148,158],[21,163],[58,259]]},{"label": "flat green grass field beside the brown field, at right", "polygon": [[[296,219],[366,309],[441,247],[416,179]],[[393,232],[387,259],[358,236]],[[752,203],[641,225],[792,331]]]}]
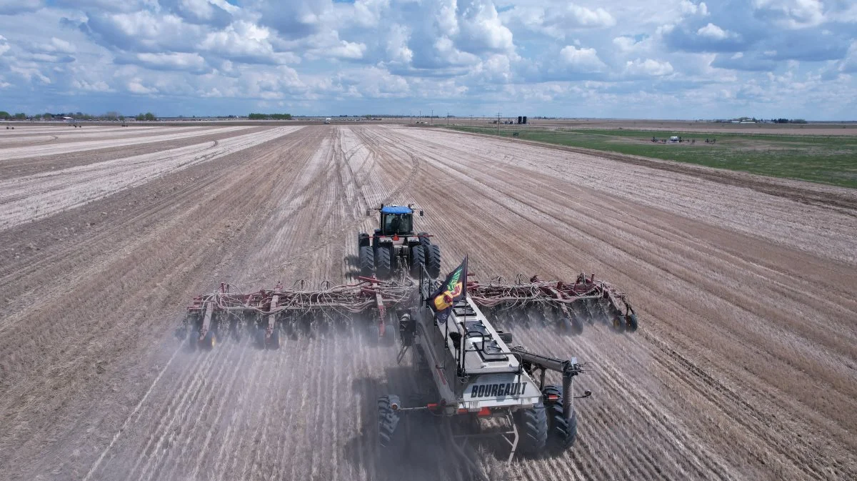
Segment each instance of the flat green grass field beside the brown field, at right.
[{"label": "flat green grass field beside the brown field, at right", "polygon": [[[450,129],[497,135],[496,127],[454,126]],[[771,177],[786,177],[857,188],[857,136],[770,135],[649,130],[540,130],[501,125],[500,135],[572,147],[642,155],[654,159],[708,165]],[[654,143],[669,135],[682,142]],[[716,143],[705,138],[716,137]],[[695,140],[694,143],[684,141]]]}]

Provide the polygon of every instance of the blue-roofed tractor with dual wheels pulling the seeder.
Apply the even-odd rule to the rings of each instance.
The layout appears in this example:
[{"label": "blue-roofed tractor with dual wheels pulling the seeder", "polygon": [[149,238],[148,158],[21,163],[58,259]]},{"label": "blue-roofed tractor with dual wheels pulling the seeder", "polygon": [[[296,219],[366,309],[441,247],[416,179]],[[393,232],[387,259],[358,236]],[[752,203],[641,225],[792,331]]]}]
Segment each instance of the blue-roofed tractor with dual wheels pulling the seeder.
[{"label": "blue-roofed tractor with dual wheels pulling the seeder", "polygon": [[[371,236],[361,232],[357,236],[360,258],[360,275],[387,280],[402,270],[419,279],[423,266],[432,279],[440,275],[440,245],[432,244],[428,232],[414,232],[414,208],[385,206],[369,209],[381,213],[381,226]],[[423,210],[419,210],[423,216]]]}]

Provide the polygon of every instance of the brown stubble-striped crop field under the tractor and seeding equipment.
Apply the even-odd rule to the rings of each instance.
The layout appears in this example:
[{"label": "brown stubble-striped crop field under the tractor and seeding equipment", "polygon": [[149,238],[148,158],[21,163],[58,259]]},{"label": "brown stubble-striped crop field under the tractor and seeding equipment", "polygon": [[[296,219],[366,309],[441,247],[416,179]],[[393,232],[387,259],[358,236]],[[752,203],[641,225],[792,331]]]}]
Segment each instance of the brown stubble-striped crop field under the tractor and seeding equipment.
[{"label": "brown stubble-striped crop field under the tractor and seeding equipment", "polygon": [[221,280],[348,280],[381,201],[425,208],[445,271],[595,272],[638,310],[506,326],[593,396],[564,457],[479,448],[493,478],[857,478],[853,191],[394,125],[116,129],[0,132],[0,478],[466,479],[430,433],[377,461],[376,397],[415,387],[357,329],[171,337]]}]

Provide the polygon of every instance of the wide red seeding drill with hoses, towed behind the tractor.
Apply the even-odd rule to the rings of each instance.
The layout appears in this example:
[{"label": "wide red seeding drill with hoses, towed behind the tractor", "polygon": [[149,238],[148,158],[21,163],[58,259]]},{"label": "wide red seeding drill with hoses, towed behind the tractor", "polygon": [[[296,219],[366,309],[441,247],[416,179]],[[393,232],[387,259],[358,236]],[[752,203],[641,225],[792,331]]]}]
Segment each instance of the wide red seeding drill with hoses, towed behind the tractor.
[{"label": "wide red seeding drill with hoses, towed behind the tractor", "polygon": [[[278,284],[249,294],[221,283],[188,306],[177,337],[189,338],[191,348],[212,349],[219,340],[241,340],[243,334],[252,334],[257,346],[278,349],[284,332],[311,333],[363,319],[378,338],[392,344],[391,327],[398,322],[394,311],[415,308],[420,302],[417,290],[417,284],[405,276],[399,280],[358,277],[354,284],[339,286],[324,281],[317,289],[298,280],[290,288]],[[521,275],[513,283],[500,277],[487,284],[470,280],[467,292],[488,316],[511,324],[556,322],[570,334],[580,334],[585,323],[596,322],[617,332],[637,329],[637,316],[626,294],[596,280],[594,274],[580,274],[573,283],[536,276],[527,280]]]}]

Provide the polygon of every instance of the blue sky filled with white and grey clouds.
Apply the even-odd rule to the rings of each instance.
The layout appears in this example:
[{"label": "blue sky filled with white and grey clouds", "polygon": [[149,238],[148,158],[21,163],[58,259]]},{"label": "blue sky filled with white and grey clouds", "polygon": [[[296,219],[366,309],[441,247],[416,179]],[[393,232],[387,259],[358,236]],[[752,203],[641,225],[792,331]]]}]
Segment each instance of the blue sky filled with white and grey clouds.
[{"label": "blue sky filled with white and grey clouds", "polygon": [[857,0],[0,0],[0,110],[857,120]]}]

